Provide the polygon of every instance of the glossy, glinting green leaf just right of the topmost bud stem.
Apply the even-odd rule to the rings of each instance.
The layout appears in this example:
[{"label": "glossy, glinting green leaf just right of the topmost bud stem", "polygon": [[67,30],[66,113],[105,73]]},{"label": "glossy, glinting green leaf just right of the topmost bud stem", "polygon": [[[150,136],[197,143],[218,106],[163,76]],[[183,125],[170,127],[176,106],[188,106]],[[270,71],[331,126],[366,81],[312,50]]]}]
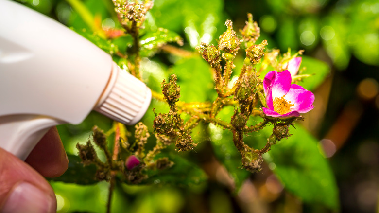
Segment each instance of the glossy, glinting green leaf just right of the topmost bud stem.
[{"label": "glossy, glinting green leaf just right of the topmost bud stem", "polygon": [[168,42],[181,44],[182,38],[173,31],[158,28],[155,32],[143,35],[139,42],[141,44],[140,55],[142,57],[151,57],[160,47]]}]

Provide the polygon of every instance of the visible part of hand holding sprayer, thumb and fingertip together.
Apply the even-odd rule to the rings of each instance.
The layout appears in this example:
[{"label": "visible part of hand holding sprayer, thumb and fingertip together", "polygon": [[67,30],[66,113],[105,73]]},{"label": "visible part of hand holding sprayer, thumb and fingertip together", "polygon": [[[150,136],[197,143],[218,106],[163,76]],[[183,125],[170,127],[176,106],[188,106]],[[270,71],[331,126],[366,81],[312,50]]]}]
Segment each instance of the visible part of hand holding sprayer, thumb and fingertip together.
[{"label": "visible part of hand holding sprayer, thumb and fingertip together", "polygon": [[0,213],[55,213],[55,194],[44,177],[62,175],[68,162],[56,127],[25,162],[0,148]]}]

